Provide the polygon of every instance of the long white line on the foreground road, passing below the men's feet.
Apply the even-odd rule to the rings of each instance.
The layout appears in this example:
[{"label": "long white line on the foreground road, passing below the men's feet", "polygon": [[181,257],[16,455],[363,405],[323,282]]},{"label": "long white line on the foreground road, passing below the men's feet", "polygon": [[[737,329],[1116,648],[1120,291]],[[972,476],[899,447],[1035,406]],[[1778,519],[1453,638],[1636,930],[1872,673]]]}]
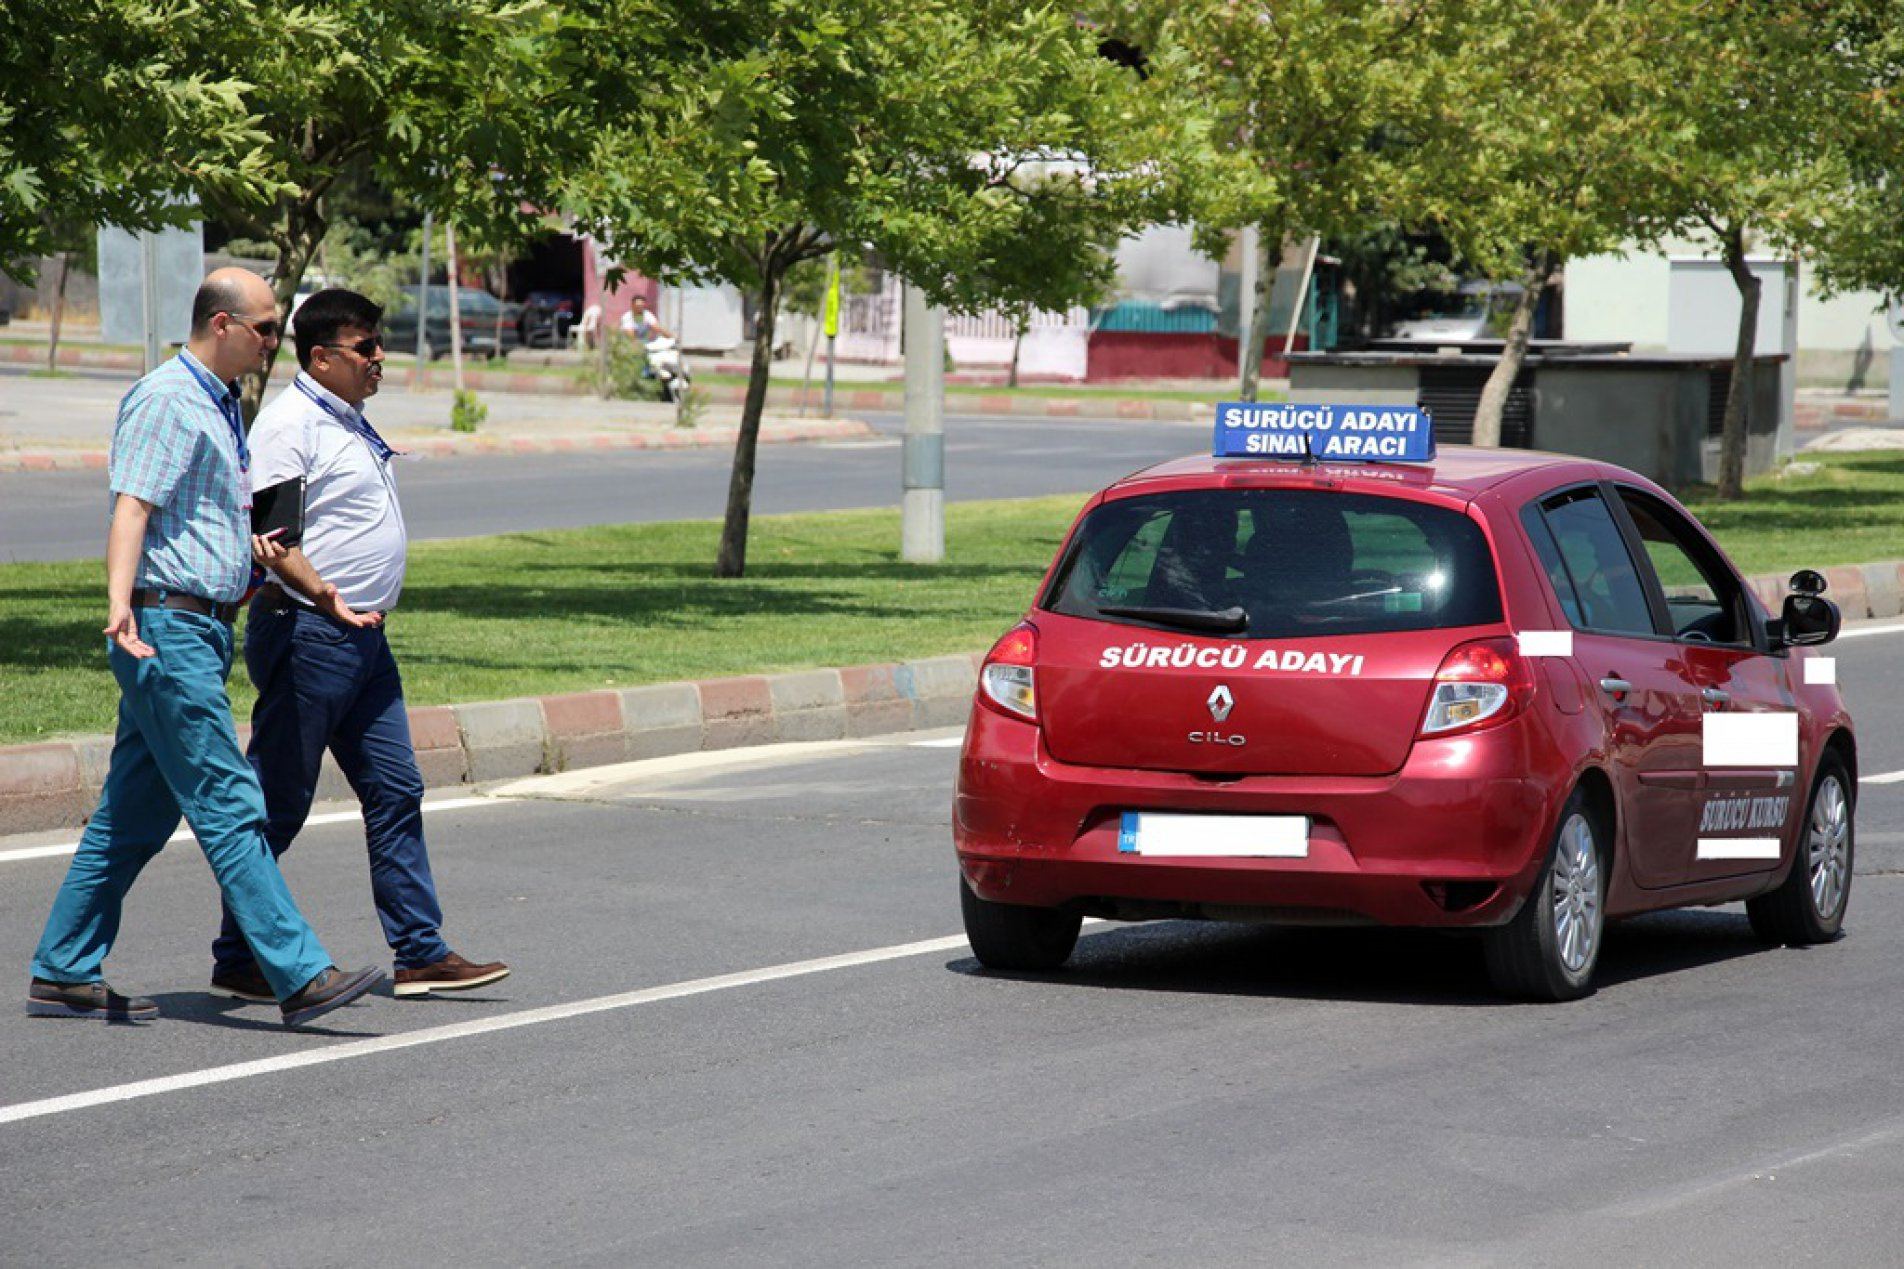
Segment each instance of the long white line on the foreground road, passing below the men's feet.
[{"label": "long white line on the foreground road, passing below the men's feet", "polygon": [[[1104,922],[1087,920],[1085,924],[1093,926]],[[17,1124],[23,1118],[65,1115],[67,1111],[84,1111],[88,1107],[110,1105],[114,1101],[135,1101],[139,1098],[156,1098],[160,1094],[183,1092],[187,1088],[204,1088],[208,1084],[228,1084],[232,1080],[248,1080],[259,1075],[276,1075],[278,1071],[297,1071],[301,1067],[318,1067],[331,1061],[348,1061],[352,1058],[371,1058],[377,1054],[390,1054],[402,1048],[419,1048],[423,1044],[466,1040],[476,1035],[516,1031],[520,1027],[537,1027],[541,1023],[565,1021],[569,1017],[586,1017],[588,1014],[626,1010],[626,1008],[636,1008],[640,1004],[659,1004],[661,1000],[704,997],[712,991],[731,991],[735,987],[773,983],[786,977],[805,977],[807,974],[851,970],[863,964],[902,960],[906,957],[929,957],[933,953],[960,951],[963,947],[967,947],[967,943],[965,936],[962,934],[942,939],[922,939],[918,943],[891,943],[887,947],[868,947],[866,951],[842,953],[838,957],[790,960],[786,964],[773,964],[762,970],[743,970],[739,974],[695,977],[685,983],[644,987],[640,991],[623,991],[613,997],[594,997],[590,1000],[573,1000],[569,1004],[550,1004],[546,1008],[522,1010],[518,1014],[501,1014],[497,1017],[478,1017],[472,1021],[449,1023],[447,1027],[421,1027],[417,1031],[404,1031],[402,1035],[383,1035],[373,1040],[350,1040],[347,1044],[329,1044],[326,1048],[312,1048],[301,1054],[280,1054],[278,1058],[236,1061],[228,1067],[181,1071],[179,1075],[162,1075],[158,1078],[135,1080],[131,1084],[112,1084],[110,1088],[93,1088],[91,1092],[65,1094],[61,1098],[42,1098],[40,1101],[17,1101],[13,1105],[0,1105],[0,1124]]]}]

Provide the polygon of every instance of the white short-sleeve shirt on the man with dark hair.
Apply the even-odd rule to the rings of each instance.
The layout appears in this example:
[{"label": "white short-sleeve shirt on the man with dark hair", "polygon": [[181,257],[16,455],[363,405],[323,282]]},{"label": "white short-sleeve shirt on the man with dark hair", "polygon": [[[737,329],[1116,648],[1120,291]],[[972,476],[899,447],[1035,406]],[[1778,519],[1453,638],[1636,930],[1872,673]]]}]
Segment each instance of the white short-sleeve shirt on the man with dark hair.
[{"label": "white short-sleeve shirt on the man with dark hair", "polygon": [[388,612],[404,591],[409,551],[396,473],[347,417],[362,413],[299,372],[251,425],[251,488],[303,476],[305,558],[350,608]]}]

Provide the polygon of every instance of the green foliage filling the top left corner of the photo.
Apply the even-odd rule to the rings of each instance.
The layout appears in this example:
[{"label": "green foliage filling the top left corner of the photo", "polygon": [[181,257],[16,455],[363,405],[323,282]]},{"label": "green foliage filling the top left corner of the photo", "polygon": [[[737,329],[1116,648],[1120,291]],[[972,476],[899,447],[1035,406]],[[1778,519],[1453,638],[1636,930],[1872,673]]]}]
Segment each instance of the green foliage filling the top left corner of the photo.
[{"label": "green foliage filling the top left corner of the photo", "polygon": [[194,219],[187,189],[272,189],[242,74],[190,57],[158,0],[0,6],[0,261],[27,278],[74,227]]}]

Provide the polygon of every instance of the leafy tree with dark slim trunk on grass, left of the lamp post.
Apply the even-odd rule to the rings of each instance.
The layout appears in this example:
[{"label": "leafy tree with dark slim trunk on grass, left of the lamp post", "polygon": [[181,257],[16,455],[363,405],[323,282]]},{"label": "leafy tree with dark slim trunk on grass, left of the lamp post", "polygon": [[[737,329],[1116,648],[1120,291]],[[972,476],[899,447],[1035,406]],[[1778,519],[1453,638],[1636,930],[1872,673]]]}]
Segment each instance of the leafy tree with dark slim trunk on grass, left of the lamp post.
[{"label": "leafy tree with dark slim trunk on grass, left of the lamp post", "polygon": [[565,206],[649,276],[754,301],[716,574],[746,568],[760,415],[788,271],[863,244],[950,309],[1066,307],[1169,202],[1196,111],[1007,0],[710,0],[668,111],[607,131]]}]

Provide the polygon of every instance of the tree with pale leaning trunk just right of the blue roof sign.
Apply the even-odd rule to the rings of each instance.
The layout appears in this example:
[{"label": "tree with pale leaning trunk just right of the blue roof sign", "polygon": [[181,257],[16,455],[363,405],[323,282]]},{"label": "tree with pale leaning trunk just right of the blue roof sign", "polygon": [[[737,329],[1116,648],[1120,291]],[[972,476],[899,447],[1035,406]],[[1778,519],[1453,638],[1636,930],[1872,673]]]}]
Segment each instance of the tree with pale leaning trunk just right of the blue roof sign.
[{"label": "tree with pale leaning trunk just right of the blue roof sign", "polygon": [[1519,284],[1474,444],[1500,444],[1535,309],[1577,255],[1643,238],[1666,212],[1660,145],[1670,86],[1689,72],[1672,2],[1474,0],[1439,67],[1460,91],[1434,101],[1401,166],[1415,215],[1468,269]]}]

